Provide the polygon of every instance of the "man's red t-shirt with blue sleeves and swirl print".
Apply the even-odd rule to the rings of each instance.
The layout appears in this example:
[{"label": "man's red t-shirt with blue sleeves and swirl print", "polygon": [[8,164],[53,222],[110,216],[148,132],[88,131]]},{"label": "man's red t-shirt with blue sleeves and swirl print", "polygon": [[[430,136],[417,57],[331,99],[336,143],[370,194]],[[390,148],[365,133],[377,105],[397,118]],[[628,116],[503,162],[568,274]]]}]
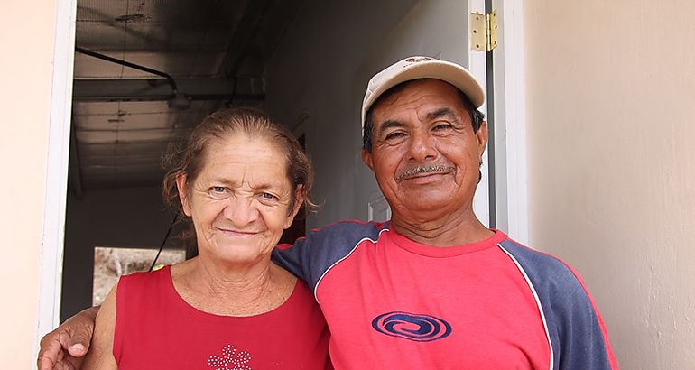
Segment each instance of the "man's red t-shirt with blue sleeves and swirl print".
[{"label": "man's red t-shirt with blue sleeves and swirl print", "polygon": [[337,369],[616,368],[576,273],[500,231],[442,248],[342,222],[280,249],[319,301]]}]

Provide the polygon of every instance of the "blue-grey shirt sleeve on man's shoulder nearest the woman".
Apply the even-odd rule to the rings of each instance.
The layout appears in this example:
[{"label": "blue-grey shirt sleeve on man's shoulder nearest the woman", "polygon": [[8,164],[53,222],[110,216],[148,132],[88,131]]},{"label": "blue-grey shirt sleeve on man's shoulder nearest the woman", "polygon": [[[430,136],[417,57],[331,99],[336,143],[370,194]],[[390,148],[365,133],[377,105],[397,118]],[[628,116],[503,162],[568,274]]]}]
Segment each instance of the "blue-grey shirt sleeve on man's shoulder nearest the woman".
[{"label": "blue-grey shirt sleeve on man's shoulder nearest the woman", "polygon": [[363,240],[376,240],[385,224],[343,221],[310,231],[289,248],[275,248],[273,262],[297,275],[315,290],[331,266],[349,255]]}]

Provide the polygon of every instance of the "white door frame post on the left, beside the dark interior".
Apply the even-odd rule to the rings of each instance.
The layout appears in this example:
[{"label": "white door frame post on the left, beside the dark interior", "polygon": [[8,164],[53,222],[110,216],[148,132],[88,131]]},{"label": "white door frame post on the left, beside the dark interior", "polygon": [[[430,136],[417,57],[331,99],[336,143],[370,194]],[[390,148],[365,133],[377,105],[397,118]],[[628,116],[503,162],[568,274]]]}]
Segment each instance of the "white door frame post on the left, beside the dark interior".
[{"label": "white door frame post on the left, beside the dark interior", "polygon": [[65,204],[70,156],[77,0],[56,0],[56,5],[36,349],[42,336],[55,328],[60,320]]}]

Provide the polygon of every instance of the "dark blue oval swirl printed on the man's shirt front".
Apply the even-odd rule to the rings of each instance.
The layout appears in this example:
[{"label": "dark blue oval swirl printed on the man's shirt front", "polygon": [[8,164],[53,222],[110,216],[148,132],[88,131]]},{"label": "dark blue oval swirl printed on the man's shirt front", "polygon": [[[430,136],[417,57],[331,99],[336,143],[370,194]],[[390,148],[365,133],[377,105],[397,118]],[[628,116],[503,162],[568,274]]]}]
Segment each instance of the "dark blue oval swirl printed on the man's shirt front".
[{"label": "dark blue oval swirl printed on the man's shirt front", "polygon": [[431,315],[408,312],[386,312],[372,320],[372,328],[391,337],[431,342],[451,334],[451,325]]}]

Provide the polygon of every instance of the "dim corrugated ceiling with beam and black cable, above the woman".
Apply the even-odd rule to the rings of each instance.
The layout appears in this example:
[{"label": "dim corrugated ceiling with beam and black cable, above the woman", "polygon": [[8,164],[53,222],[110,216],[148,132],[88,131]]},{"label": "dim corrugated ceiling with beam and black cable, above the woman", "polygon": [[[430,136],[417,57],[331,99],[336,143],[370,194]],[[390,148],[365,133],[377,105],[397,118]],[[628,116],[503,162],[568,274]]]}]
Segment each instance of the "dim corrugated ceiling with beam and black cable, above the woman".
[{"label": "dim corrugated ceiling with beam and black cable, above the woman", "polygon": [[[221,106],[262,106],[264,69],[301,0],[79,0],[70,189],[157,185],[162,153]],[[186,102],[184,100],[184,103]]]}]

